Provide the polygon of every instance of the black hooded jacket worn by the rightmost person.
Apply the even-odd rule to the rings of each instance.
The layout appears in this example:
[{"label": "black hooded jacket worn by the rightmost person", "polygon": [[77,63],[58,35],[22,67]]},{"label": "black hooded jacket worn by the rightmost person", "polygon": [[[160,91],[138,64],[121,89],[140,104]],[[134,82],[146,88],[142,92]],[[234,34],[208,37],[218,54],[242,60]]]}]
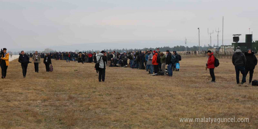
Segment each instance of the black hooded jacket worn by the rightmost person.
[{"label": "black hooded jacket worn by the rightmost person", "polygon": [[245,52],[245,58],[246,58],[246,65],[245,69],[254,69],[254,67],[257,65],[257,58],[254,55],[254,52],[248,53],[248,51],[251,49],[248,49],[247,52]]}]

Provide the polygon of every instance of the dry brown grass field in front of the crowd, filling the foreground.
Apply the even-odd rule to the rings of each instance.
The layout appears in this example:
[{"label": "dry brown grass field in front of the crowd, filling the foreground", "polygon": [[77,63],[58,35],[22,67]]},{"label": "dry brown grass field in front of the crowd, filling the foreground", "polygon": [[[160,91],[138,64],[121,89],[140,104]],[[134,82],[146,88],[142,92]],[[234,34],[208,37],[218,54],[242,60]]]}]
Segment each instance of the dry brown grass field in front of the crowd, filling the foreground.
[{"label": "dry brown grass field in front of the crowd, filling the foreground", "polygon": [[[20,63],[13,60],[6,79],[0,79],[0,128],[258,128],[258,87],[237,86],[231,59],[219,60],[216,83],[204,70],[206,57],[183,58],[173,77],[108,67],[105,82],[98,82],[94,63],[52,60],[54,71],[49,73],[43,63],[39,73],[29,64],[23,78]],[[258,79],[257,69],[253,79]],[[203,117],[249,118],[249,122],[179,120]]]}]

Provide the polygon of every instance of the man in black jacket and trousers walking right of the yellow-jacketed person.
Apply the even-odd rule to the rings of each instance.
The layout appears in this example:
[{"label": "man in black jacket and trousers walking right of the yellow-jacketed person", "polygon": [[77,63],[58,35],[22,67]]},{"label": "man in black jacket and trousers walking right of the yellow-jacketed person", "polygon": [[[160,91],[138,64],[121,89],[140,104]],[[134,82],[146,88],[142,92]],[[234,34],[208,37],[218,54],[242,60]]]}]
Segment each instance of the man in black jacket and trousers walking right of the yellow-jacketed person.
[{"label": "man in black jacket and trousers walking right of the yellow-jacketed person", "polygon": [[24,54],[24,51],[21,51],[18,62],[21,63],[23,78],[26,77],[29,61],[30,61],[30,58],[28,57],[28,55]]}]

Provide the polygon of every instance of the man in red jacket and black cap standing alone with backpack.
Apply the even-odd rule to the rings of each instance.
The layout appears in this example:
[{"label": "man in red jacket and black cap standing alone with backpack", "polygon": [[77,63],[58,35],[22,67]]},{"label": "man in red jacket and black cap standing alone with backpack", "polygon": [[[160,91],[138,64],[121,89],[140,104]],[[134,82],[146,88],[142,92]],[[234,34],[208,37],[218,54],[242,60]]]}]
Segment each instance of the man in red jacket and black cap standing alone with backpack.
[{"label": "man in red jacket and black cap standing alone with backpack", "polygon": [[211,82],[215,82],[215,75],[214,75],[214,61],[215,61],[215,57],[213,55],[213,52],[211,52],[210,50],[208,50],[207,52],[208,55],[208,61],[207,61],[207,68],[210,70],[210,75],[211,75]]}]

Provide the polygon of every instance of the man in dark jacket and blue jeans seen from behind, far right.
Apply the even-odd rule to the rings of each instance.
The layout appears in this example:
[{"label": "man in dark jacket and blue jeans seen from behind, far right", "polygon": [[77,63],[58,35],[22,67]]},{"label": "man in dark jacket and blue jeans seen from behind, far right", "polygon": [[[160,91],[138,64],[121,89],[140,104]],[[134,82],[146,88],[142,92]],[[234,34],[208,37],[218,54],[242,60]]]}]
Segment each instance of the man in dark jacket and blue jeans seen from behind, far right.
[{"label": "man in dark jacket and blue jeans seen from behind, far right", "polygon": [[[240,47],[237,47],[236,51],[234,52],[232,56],[232,63],[235,66],[236,70],[236,79],[237,84],[241,86],[241,84],[244,84],[246,82],[246,74],[245,74],[245,65],[246,65],[246,58],[245,55],[240,50]],[[241,83],[239,82],[239,74],[243,75]]]}]

